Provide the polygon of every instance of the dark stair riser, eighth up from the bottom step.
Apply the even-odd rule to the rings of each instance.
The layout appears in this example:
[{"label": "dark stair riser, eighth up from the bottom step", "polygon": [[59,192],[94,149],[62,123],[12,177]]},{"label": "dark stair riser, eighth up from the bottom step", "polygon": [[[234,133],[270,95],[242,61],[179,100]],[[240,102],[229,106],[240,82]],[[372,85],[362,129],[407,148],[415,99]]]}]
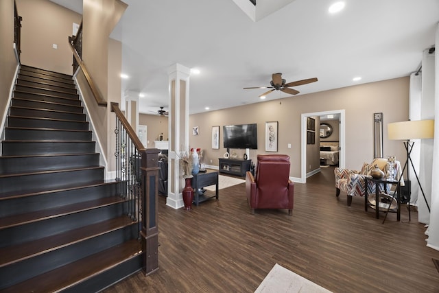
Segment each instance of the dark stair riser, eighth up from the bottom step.
[{"label": "dark stair riser, eighth up from the bottom step", "polygon": [[[44,130],[44,129],[11,129],[6,128],[7,140],[58,140],[58,141],[91,141],[90,131]],[[0,171],[1,172],[1,171]]]}]

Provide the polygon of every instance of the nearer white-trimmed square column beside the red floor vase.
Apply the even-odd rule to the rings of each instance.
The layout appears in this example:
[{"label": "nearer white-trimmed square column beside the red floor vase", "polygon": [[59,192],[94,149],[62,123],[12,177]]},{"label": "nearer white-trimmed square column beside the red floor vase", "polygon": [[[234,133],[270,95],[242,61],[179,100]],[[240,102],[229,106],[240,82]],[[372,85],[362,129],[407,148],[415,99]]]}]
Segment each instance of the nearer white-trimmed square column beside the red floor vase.
[{"label": "nearer white-trimmed square column beside the red floor vase", "polygon": [[178,63],[168,69],[169,75],[169,150],[166,205],[174,209],[184,207],[182,178],[177,154],[189,150],[189,75],[191,71]]}]

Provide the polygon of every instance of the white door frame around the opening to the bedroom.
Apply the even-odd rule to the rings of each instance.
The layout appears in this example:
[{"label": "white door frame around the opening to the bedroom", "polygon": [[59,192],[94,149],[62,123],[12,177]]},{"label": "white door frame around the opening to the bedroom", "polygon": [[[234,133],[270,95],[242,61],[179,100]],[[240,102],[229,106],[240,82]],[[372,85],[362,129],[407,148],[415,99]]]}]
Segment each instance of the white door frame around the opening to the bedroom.
[{"label": "white door frame around the opening to the bedroom", "polygon": [[300,165],[300,183],[307,182],[307,117],[323,116],[323,115],[329,115],[329,114],[340,115],[340,138],[339,138],[340,154],[339,154],[338,165],[339,165],[339,167],[344,168],[344,164],[345,164],[344,163],[344,159],[345,159],[344,109],[324,111],[324,112],[314,112],[314,113],[302,113],[302,117],[301,117],[302,124],[300,126],[300,128],[301,128],[301,133],[300,133],[301,161],[302,161],[302,163]]}]

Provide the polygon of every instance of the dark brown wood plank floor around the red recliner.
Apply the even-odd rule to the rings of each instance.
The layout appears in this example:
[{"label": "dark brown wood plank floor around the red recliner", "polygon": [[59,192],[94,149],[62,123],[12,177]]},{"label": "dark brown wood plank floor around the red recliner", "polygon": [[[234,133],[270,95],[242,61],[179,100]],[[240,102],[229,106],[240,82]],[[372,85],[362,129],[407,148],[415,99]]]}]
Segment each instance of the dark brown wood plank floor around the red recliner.
[{"label": "dark brown wood plank floor around the red recliner", "polygon": [[159,270],[105,292],[254,292],[275,263],[332,292],[439,292],[439,272],[417,213],[382,224],[364,199],[335,197],[333,167],[296,183],[293,216],[250,214],[245,185],[193,211],[159,206]]}]

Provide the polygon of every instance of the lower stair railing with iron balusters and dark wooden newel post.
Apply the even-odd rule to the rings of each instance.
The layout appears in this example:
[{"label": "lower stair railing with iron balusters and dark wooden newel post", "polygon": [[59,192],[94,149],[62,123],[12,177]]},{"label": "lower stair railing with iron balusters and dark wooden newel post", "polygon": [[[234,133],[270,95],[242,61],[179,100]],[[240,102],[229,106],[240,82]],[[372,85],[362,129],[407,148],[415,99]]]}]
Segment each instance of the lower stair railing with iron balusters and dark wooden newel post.
[{"label": "lower stair railing with iron balusters and dark wooden newel post", "polygon": [[136,132],[119,108],[112,102],[116,114],[116,180],[120,181],[121,195],[128,200],[128,215],[139,221],[139,238],[145,251],[143,272],[158,270],[158,153],[145,149]]}]

